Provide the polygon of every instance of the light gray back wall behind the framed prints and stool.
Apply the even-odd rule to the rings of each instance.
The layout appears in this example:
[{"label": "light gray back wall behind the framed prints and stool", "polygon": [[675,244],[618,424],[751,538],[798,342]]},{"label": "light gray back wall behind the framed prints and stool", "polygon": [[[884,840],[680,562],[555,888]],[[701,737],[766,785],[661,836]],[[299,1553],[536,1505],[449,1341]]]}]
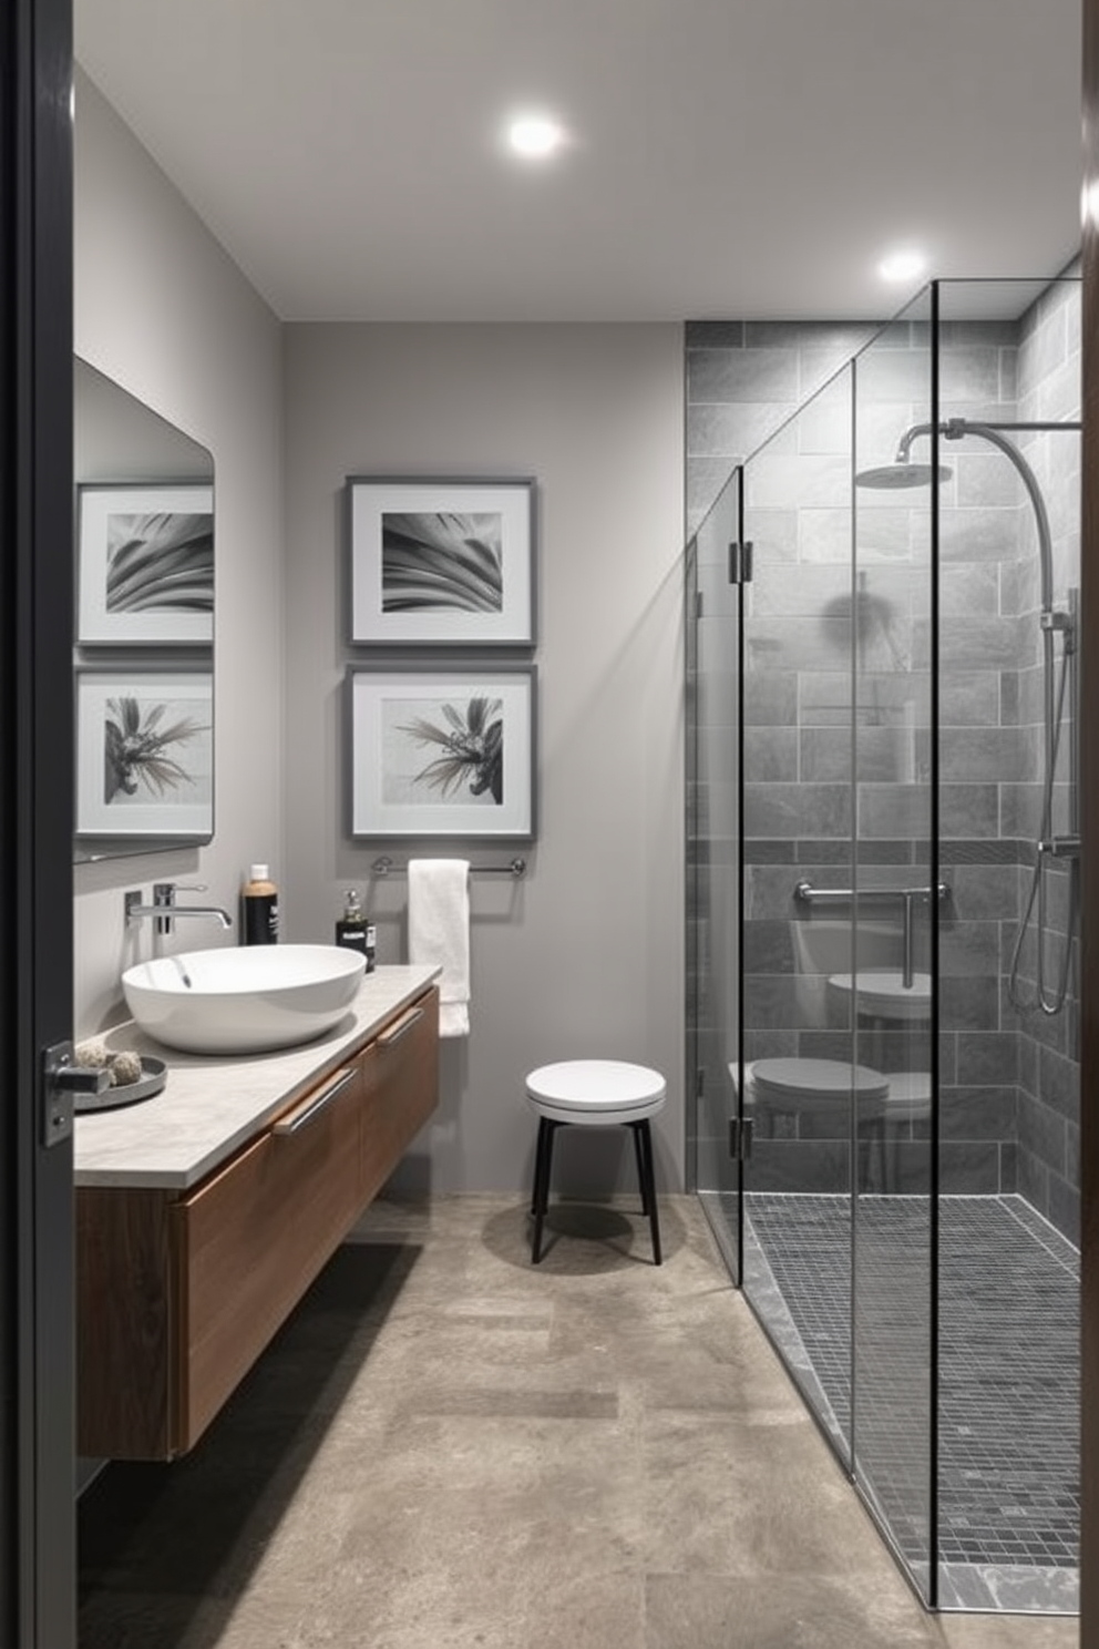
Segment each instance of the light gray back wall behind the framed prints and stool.
[{"label": "light gray back wall behind the framed prints and stool", "polygon": [[[379,960],[405,958],[405,882],[369,866],[407,853],[343,831],[344,478],[535,475],[539,841],[522,884],[473,881],[471,1036],[443,1044],[440,1113],[400,1179],[527,1186],[524,1073],[611,1055],[667,1075],[657,1172],[679,1186],[682,328],[298,325],[285,345],[285,933],[330,938],[359,884]],[[600,1184],[621,1138],[600,1139],[582,1181],[564,1136],[559,1184]]]}]

